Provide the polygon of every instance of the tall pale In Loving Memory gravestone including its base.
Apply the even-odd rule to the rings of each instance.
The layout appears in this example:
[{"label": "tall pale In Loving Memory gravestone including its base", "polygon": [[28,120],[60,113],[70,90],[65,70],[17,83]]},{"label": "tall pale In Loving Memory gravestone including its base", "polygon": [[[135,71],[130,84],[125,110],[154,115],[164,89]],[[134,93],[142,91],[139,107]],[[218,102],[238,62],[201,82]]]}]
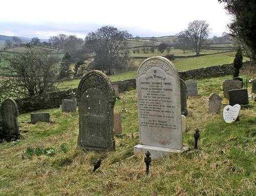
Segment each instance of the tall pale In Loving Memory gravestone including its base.
[{"label": "tall pale In Loving Memory gravestone including its base", "polygon": [[164,57],[144,60],[137,72],[140,144],[134,154],[149,151],[152,159],[180,153],[182,144],[180,77]]}]

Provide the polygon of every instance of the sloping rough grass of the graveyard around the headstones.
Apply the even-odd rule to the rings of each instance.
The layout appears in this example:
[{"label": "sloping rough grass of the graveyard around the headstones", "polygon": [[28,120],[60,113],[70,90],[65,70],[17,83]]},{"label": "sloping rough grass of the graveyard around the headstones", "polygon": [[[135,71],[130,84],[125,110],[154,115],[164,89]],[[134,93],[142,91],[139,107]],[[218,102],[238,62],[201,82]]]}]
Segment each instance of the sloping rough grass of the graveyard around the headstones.
[{"label": "sloping rough grass of the graveyard around the headstones", "polygon": [[[240,121],[225,123],[209,115],[207,98],[219,93],[226,77],[198,80],[198,97],[188,98],[184,154],[152,161],[146,176],[144,156],[133,156],[139,143],[136,90],[120,95],[127,100],[122,114],[122,138],[116,150],[95,153],[76,148],[78,113],[50,112],[51,123],[22,122],[22,139],[0,143],[0,195],[255,195],[256,103],[242,107]],[[250,92],[250,86],[249,91]],[[222,109],[228,104],[222,101]],[[115,111],[120,112],[118,100]],[[19,116],[29,121],[30,114]],[[194,129],[200,130],[194,150]],[[98,158],[102,164],[92,172]]]}]

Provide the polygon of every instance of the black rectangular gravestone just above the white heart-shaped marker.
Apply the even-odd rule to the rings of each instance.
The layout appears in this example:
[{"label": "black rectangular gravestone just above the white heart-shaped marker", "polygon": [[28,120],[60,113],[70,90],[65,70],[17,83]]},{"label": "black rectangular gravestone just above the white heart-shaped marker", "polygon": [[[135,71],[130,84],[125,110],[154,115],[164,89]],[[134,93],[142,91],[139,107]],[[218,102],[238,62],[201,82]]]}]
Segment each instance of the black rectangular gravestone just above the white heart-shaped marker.
[{"label": "black rectangular gravestone just above the white heart-shaped marker", "polygon": [[234,105],[234,104],[247,105],[247,104],[249,104],[247,89],[229,90],[228,94],[229,94],[229,105]]}]

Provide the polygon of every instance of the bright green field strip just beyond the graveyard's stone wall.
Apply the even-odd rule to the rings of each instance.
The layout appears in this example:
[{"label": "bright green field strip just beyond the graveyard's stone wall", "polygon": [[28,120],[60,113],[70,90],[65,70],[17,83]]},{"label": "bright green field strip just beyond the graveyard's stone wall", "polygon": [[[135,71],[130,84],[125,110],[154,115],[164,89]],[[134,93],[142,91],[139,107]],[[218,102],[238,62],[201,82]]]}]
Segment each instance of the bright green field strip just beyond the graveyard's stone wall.
[{"label": "bright green field strip just beyond the graveyard's stone wall", "polygon": [[[175,59],[173,62],[175,64],[175,67],[178,69],[178,71],[184,71],[184,70],[191,70],[196,68],[203,68],[203,67],[209,67],[209,66],[216,66],[218,64],[227,64],[233,62],[235,52],[230,53],[222,53],[222,54],[213,54],[213,55],[207,55],[207,56],[200,56],[200,57],[190,57],[190,58],[180,58]],[[144,59],[137,59],[136,65],[139,66],[139,64]],[[248,60],[245,58],[244,60]],[[137,71],[132,72],[125,72],[121,74],[115,74],[109,76],[111,81],[119,81],[119,80],[127,80],[127,79],[133,79],[136,78]],[[70,80],[58,83],[58,88],[60,90],[65,89],[72,89],[77,88],[78,83],[80,79],[76,80]]]}]

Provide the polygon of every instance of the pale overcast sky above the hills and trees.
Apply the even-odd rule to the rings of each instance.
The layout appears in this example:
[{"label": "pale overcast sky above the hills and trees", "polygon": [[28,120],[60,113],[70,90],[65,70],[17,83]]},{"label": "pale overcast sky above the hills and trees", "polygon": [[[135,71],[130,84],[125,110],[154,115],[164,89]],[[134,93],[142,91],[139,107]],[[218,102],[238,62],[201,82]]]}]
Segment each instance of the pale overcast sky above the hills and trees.
[{"label": "pale overcast sky above the hills and trees", "polygon": [[133,36],[175,35],[193,20],[206,20],[211,36],[228,31],[230,17],[218,0],[9,0],[0,3],[0,35],[49,38],[87,33],[104,25]]}]

